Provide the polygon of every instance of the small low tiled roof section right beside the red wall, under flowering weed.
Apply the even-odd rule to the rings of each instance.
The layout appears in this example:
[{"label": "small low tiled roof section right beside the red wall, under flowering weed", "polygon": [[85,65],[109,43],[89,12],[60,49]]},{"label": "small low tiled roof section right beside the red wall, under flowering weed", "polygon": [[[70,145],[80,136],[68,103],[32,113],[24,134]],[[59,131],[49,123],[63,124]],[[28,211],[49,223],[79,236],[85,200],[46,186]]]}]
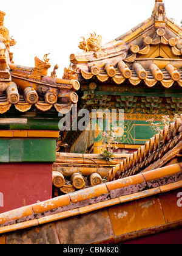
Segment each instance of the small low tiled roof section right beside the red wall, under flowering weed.
[{"label": "small low tiled roof section right beside the red wall, under flowering weed", "polygon": [[[112,162],[107,162],[100,154],[56,153],[53,163],[54,195],[58,191],[68,194],[78,189],[94,187],[106,182],[109,170],[127,154],[113,155]],[[89,166],[89,167],[88,167]]]}]

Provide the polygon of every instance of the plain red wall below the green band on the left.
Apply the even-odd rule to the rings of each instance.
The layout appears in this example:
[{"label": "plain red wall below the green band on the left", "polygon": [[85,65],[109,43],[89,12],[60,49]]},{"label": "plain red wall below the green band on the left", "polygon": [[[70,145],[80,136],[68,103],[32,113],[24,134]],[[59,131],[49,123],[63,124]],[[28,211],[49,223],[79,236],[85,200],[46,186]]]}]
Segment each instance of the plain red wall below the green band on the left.
[{"label": "plain red wall below the green band on the left", "polygon": [[51,163],[0,164],[0,213],[50,198]]}]

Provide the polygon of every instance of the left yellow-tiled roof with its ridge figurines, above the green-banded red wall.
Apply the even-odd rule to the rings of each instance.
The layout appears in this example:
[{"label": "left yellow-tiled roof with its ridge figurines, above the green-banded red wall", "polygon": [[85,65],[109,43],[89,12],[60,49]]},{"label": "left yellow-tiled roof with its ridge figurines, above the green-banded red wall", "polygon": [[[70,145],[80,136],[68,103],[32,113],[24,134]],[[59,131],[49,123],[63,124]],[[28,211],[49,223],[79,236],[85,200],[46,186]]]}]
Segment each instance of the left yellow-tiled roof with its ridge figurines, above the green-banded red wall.
[{"label": "left yellow-tiled roof with its ridge figurines, above the green-banded red wall", "polygon": [[65,108],[71,110],[72,105],[78,102],[75,91],[80,87],[75,71],[72,67],[65,68],[61,79],[56,76],[59,66],[55,65],[51,76],[47,76],[51,67],[47,59],[49,54],[44,55],[44,60],[35,57],[35,67],[14,64],[10,46],[16,41],[10,40],[9,30],[3,25],[5,13],[0,15],[0,30],[4,31],[0,45],[0,114],[6,113],[12,104],[19,112],[27,112],[32,105],[42,112],[53,106],[58,112]]}]

